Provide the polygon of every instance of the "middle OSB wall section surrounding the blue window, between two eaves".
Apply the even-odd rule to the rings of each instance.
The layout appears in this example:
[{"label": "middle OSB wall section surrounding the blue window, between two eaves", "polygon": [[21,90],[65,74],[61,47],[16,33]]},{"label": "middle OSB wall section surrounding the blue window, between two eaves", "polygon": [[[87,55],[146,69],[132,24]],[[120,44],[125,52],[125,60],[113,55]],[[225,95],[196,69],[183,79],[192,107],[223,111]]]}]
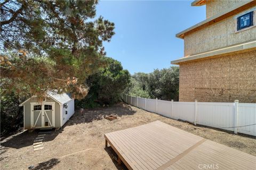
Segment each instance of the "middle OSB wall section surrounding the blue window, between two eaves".
[{"label": "middle OSB wall section surrounding the blue window, between two eaves", "polygon": [[220,22],[205,27],[196,32],[190,33],[184,37],[184,54],[185,56],[207,52],[209,50],[223,48],[245,41],[256,39],[256,10],[255,7],[245,12],[254,10],[253,26],[237,31],[237,16],[230,16]]}]

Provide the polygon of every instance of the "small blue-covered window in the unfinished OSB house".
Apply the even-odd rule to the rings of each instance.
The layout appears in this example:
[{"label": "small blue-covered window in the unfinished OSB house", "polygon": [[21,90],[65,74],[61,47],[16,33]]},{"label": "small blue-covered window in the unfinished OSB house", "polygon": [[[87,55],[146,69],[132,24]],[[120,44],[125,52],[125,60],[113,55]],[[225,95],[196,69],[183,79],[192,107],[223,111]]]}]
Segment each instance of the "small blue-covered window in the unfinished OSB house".
[{"label": "small blue-covered window in the unfinished OSB house", "polygon": [[237,31],[253,25],[253,11],[237,18]]}]

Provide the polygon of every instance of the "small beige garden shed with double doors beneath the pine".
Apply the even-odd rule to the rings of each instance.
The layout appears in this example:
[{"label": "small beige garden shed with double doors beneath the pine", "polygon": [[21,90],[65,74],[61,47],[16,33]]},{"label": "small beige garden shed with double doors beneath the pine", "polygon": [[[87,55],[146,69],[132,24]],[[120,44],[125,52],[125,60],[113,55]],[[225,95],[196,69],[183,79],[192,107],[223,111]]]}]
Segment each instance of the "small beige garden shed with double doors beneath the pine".
[{"label": "small beige garden shed with double doors beneath the pine", "polygon": [[19,106],[23,106],[24,129],[61,128],[75,113],[70,95],[50,91],[43,101],[33,96]]}]

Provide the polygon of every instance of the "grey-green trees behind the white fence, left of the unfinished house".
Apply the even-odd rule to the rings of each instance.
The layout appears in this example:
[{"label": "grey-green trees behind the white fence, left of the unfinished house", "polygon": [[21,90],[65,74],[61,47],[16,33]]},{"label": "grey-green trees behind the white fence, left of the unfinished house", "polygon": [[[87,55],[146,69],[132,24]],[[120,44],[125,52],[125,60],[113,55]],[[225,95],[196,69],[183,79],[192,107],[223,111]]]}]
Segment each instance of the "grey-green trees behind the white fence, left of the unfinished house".
[{"label": "grey-green trees behind the white fence, left of the unfinished house", "polygon": [[143,98],[179,100],[179,67],[154,70],[151,73],[135,73],[125,93]]}]

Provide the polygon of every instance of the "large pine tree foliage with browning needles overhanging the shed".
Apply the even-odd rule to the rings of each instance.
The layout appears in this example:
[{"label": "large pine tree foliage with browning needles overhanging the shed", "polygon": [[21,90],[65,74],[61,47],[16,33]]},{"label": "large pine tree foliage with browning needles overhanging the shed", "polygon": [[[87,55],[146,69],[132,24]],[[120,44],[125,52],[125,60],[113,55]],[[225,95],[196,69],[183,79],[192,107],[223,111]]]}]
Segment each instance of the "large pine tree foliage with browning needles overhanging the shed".
[{"label": "large pine tree foliage with browning needles overhanging the shed", "polygon": [[[95,18],[98,1],[1,1],[4,91],[87,95],[86,78],[106,66],[103,41],[114,23]],[[27,91],[23,91],[25,87]]]}]

